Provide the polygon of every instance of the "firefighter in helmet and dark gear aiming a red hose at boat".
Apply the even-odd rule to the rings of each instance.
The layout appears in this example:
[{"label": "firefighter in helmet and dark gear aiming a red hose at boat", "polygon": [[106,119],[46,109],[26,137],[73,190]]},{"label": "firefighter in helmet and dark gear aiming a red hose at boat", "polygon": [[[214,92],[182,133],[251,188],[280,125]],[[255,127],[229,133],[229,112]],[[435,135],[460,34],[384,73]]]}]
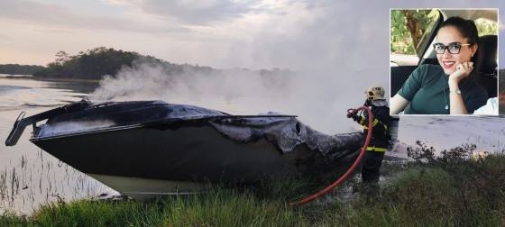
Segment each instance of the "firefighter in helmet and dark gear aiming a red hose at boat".
[{"label": "firefighter in helmet and dark gear aiming a red hose at boat", "polygon": [[[380,177],[380,169],[384,153],[390,143],[388,127],[391,124],[390,107],[384,98],[384,88],[380,85],[372,85],[366,91],[365,106],[372,111],[372,138],[362,160],[363,183],[377,183]],[[356,123],[363,125],[363,133],[368,133],[368,112],[363,111],[363,115],[356,112],[351,117]]]}]

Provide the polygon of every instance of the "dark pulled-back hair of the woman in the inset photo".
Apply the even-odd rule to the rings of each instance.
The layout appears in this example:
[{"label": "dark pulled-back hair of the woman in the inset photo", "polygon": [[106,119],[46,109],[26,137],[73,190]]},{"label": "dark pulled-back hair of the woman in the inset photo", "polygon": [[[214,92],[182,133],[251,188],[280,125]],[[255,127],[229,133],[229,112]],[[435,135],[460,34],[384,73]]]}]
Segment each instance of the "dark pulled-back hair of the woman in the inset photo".
[{"label": "dark pulled-back hair of the woman in the inset photo", "polygon": [[[477,26],[475,26],[475,23],[473,23],[473,21],[464,20],[459,16],[449,17],[447,20],[445,20],[444,23],[440,25],[438,31],[440,31],[441,28],[450,26],[454,26],[454,28],[456,28],[458,32],[461,33],[463,38],[468,40],[468,43],[470,44],[469,47],[472,47],[473,45],[479,43],[479,32],[477,31]],[[473,70],[470,73],[469,77],[476,79],[476,77],[479,75],[479,71],[481,68],[480,48],[477,48],[477,51],[473,54],[471,60],[473,62]]]}]

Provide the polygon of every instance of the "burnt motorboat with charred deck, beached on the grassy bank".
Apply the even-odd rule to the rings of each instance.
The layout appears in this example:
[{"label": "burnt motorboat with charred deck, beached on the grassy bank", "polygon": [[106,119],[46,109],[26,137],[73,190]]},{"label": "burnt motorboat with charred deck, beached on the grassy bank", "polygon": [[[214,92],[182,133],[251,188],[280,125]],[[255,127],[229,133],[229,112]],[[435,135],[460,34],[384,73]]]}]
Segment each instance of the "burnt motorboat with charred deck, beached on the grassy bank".
[{"label": "burnt motorboat with charred deck, beached on the grassy bank", "polygon": [[30,117],[22,113],[5,145],[14,146],[28,125],[30,141],[42,150],[141,200],[338,165],[363,141],[359,132],[317,132],[295,115],[233,115],[158,100],[85,98]]}]

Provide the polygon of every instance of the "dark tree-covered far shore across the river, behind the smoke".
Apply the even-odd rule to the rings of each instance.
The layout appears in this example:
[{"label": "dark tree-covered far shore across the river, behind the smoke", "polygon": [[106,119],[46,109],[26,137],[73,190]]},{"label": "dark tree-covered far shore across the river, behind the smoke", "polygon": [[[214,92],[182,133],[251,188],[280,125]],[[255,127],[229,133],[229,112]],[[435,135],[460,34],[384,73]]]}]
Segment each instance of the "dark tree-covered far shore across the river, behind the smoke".
[{"label": "dark tree-covered far shore across the river, behind the smoke", "polygon": [[[97,47],[92,50],[80,51],[77,55],[69,55],[67,52],[60,50],[56,53],[55,61],[50,62],[46,67],[17,64],[0,65],[0,74],[32,75],[35,78],[101,80],[106,76],[115,77],[123,68],[135,68],[142,64],[160,67],[167,76],[183,73],[209,75],[212,72],[224,70],[198,66],[197,64],[175,64],[152,56],[144,56],[134,51]],[[250,71],[248,68],[242,68],[241,70]],[[261,75],[275,75],[280,71],[290,72],[289,69],[281,70],[280,68],[260,69],[258,71]]]}]

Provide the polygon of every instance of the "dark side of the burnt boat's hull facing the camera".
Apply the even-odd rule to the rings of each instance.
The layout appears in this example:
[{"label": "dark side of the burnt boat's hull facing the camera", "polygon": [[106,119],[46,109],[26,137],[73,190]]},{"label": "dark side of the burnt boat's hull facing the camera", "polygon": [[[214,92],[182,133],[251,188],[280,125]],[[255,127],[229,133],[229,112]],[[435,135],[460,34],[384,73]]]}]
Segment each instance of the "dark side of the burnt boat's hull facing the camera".
[{"label": "dark side of the burnt boat's hull facing the camera", "polygon": [[174,181],[250,182],[304,172],[323,162],[320,152],[304,144],[282,153],[264,138],[241,143],[207,125],[138,127],[32,142],[87,174]]}]

